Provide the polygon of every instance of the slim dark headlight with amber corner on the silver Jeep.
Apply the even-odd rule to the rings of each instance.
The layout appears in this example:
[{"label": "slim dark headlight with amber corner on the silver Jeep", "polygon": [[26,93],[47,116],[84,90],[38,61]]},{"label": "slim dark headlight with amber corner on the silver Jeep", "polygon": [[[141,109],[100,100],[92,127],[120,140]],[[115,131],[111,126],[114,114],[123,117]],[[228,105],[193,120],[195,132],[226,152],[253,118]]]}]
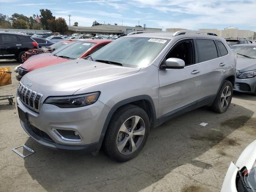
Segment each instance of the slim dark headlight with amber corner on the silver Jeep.
[{"label": "slim dark headlight with amber corner on the silver Jeep", "polygon": [[72,96],[48,97],[44,103],[56,105],[60,108],[75,108],[94,104],[100,96],[100,92]]}]

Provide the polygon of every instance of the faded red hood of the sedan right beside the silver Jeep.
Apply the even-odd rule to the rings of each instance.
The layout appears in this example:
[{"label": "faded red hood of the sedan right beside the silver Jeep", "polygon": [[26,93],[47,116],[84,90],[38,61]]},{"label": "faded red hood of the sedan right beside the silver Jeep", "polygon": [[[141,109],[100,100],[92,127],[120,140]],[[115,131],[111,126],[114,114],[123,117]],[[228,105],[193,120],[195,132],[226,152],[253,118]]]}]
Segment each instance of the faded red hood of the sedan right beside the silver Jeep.
[{"label": "faded red hood of the sedan right beside the silver Jeep", "polygon": [[56,57],[54,55],[38,55],[36,57],[29,58],[22,64],[22,68],[28,70],[29,72],[38,68],[55,65],[61,62],[69,61],[69,59]]}]

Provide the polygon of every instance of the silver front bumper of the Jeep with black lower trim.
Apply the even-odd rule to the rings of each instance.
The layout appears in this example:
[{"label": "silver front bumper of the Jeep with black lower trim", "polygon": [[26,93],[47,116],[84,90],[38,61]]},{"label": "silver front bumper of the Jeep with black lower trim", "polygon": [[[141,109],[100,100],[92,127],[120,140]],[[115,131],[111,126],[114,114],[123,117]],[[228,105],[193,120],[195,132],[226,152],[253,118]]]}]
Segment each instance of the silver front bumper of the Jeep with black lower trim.
[{"label": "silver front bumper of the Jeep with black lower trim", "polygon": [[[38,143],[55,149],[85,149],[88,152],[100,149],[100,135],[110,111],[102,102],[97,101],[80,108],[59,108],[51,104],[42,104],[39,113],[25,106],[18,95],[17,104],[28,117],[26,122],[20,120],[22,128]],[[34,131],[35,129],[37,131]],[[74,130],[78,132],[81,140],[64,140],[53,129]]]}]

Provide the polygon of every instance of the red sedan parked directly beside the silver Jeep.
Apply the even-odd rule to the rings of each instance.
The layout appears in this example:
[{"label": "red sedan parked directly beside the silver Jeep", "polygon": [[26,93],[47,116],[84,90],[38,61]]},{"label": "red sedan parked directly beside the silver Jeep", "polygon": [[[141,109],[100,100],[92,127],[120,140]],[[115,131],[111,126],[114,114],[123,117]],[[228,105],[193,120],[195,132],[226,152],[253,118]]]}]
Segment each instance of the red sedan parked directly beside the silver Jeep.
[{"label": "red sedan parked directly beside the silver Jeep", "polygon": [[77,41],[60,51],[56,50],[52,53],[35,55],[22,64],[18,70],[16,79],[19,81],[25,74],[38,68],[55,65],[71,59],[84,58],[112,41],[113,40],[82,40]]}]

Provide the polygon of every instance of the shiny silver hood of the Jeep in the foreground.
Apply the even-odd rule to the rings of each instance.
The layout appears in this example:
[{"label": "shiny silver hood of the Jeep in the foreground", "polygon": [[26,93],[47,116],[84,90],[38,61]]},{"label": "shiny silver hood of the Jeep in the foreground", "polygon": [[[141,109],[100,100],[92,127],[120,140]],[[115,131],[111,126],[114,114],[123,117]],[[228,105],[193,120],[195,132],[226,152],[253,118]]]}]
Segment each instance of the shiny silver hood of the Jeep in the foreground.
[{"label": "shiny silver hood of the Jeep in the foreground", "polygon": [[[44,96],[72,95],[77,90],[138,72],[128,68],[85,59],[71,60],[27,73],[20,80]],[[100,90],[97,90],[100,91]]]}]

